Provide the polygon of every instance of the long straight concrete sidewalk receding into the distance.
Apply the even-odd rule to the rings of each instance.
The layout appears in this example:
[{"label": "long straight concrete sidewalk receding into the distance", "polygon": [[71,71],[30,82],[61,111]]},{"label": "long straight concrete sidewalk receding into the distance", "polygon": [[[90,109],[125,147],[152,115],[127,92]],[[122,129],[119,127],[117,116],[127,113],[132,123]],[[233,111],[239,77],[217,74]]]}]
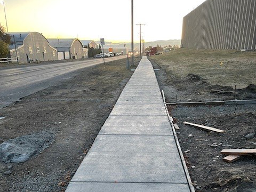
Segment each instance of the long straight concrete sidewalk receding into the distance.
[{"label": "long straight concrete sidewalk receding into the distance", "polygon": [[143,57],[66,192],[189,192],[150,61]]}]

